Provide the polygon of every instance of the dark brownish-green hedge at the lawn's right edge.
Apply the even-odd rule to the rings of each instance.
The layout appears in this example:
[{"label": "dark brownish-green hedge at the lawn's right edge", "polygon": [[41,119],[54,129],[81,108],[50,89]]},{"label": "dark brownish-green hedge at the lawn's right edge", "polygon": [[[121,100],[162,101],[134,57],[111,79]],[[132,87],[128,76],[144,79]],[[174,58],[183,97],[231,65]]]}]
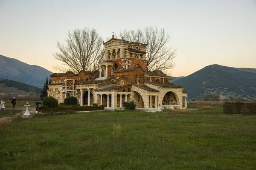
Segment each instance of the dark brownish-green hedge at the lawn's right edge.
[{"label": "dark brownish-green hedge at the lawn's right edge", "polygon": [[256,102],[225,102],[222,108],[226,114],[256,114]]}]

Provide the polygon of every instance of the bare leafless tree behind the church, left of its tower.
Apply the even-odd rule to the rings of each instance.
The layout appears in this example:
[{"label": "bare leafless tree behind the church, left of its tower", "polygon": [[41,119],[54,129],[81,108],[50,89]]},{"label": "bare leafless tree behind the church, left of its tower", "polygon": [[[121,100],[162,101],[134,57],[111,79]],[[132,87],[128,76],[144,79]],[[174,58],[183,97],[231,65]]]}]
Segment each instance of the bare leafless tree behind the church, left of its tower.
[{"label": "bare leafless tree behind the church, left of its tower", "polygon": [[55,65],[59,71],[94,71],[104,56],[103,39],[96,29],[84,28],[68,32],[66,44],[57,42],[59,52],[53,54],[55,59],[63,62],[63,66]]}]

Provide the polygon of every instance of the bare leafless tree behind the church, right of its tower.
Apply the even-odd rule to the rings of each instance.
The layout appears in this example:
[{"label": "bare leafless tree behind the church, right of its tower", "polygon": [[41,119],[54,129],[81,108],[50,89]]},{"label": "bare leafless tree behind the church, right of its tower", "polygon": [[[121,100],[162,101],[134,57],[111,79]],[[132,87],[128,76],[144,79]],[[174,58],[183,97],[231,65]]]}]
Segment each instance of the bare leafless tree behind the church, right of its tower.
[{"label": "bare leafless tree behind the church, right of its tower", "polygon": [[176,57],[176,49],[168,46],[170,35],[166,34],[164,28],[160,30],[155,27],[145,27],[141,29],[124,30],[119,32],[119,37],[124,37],[128,41],[139,41],[148,44],[146,59],[148,59],[148,70],[167,70],[174,68],[173,59]]}]

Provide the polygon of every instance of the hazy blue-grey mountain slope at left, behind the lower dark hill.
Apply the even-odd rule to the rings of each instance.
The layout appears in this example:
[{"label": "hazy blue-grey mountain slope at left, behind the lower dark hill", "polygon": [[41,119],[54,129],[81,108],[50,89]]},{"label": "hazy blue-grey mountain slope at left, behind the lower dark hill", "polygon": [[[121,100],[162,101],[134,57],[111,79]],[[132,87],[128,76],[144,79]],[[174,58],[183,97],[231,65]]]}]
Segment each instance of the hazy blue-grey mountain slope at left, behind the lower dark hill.
[{"label": "hazy blue-grey mountain slope at left, behind the lower dark hill", "polygon": [[35,87],[43,87],[52,72],[37,65],[29,65],[17,59],[0,55],[0,78],[12,79]]}]

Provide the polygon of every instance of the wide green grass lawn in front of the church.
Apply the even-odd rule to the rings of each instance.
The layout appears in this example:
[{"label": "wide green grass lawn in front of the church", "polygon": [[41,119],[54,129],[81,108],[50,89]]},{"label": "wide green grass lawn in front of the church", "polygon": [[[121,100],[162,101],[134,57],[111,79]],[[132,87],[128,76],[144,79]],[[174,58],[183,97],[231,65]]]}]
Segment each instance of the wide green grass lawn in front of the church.
[{"label": "wide green grass lawn in front of the church", "polygon": [[[15,121],[0,127],[0,170],[255,169],[256,116],[204,112],[93,112]],[[114,124],[122,127],[119,139]]]}]

